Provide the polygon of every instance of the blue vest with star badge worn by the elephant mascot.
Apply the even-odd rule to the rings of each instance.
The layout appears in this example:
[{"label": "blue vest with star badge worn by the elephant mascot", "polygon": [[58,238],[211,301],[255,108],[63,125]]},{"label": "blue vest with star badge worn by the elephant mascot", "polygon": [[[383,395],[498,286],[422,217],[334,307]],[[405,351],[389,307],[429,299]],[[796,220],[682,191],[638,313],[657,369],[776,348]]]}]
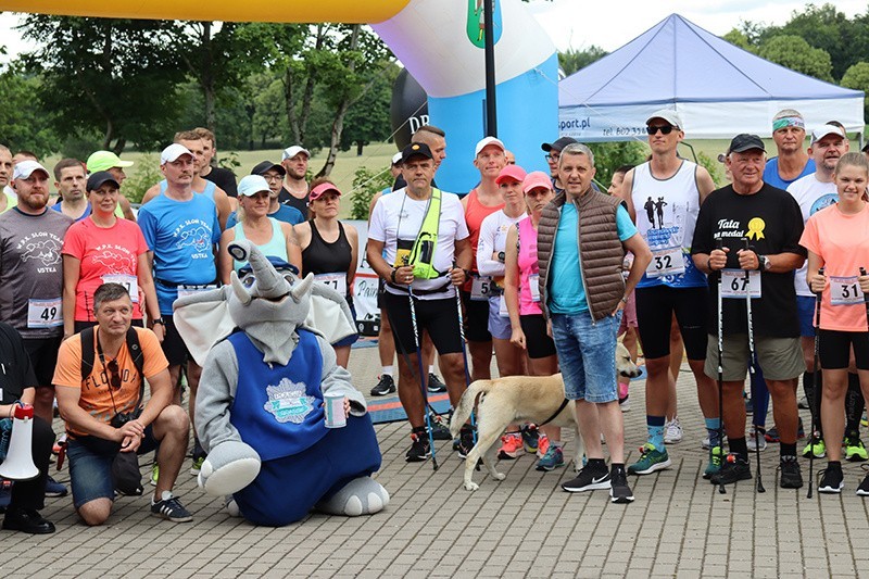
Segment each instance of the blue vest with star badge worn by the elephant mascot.
[{"label": "blue vest with star badge worn by the elephant mascot", "polygon": [[286,366],[263,362],[244,332],[227,340],[236,350],[238,390],[229,421],[263,461],[290,456],[326,436],[323,354],[311,331],[298,330],[299,345]]}]

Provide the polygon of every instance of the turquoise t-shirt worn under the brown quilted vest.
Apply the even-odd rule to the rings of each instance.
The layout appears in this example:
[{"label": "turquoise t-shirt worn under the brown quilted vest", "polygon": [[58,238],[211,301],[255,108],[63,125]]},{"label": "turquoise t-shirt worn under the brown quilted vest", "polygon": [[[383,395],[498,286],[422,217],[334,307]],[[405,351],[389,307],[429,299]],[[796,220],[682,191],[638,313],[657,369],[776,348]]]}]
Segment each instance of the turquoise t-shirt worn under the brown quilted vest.
[{"label": "turquoise t-shirt worn under the brown quilted vest", "polygon": [[[619,241],[637,235],[628,210],[624,205],[616,211],[616,229]],[[554,314],[579,314],[589,309],[585,289],[582,286],[582,264],[577,243],[577,209],[572,203],[562,207],[562,218],[552,250],[552,268],[549,277],[549,309]]]}]

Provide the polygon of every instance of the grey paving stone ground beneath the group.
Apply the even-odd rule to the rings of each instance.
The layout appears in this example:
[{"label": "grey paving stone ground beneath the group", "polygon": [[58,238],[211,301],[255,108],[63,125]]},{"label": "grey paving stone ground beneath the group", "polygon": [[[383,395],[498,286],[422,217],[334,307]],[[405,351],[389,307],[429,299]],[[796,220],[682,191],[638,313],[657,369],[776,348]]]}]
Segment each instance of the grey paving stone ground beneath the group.
[{"label": "grey paving stone ground beneath the group", "polygon": [[[375,516],[312,514],[284,528],[254,527],[229,517],[185,470],[176,493],[192,523],[152,517],[147,498],[121,498],[108,524],[88,528],[68,496],[48,499],[43,515],[58,531],[0,531],[0,577],[869,578],[869,513],[854,494],[859,465],[844,465],[841,495],[808,500],[805,488],[778,488],[778,448],[770,444],[761,455],[765,494],[752,481],[719,494],[701,478],[705,432],[687,368],[678,381],[685,432],[669,446],[673,466],[631,477],[637,501],[630,505],[610,504],[606,491],[563,492],[572,466],[539,473],[531,455],[501,462],[504,481],[476,474],[480,490],[467,492],[463,462],[449,442],[438,446],[441,466],[433,473],[430,463],[404,462],[406,425],[379,425],[383,465],[376,477],[391,503]],[[367,393],[379,372],[377,350],[354,350],[350,369]],[[629,462],[645,439],[643,398],[643,382],[632,382],[633,410],[625,415],[634,449]],[[572,440],[567,444],[569,455]],[[142,458],[143,474],[149,460]],[[807,479],[808,464],[801,462]],[[66,467],[56,478],[68,481]]]}]

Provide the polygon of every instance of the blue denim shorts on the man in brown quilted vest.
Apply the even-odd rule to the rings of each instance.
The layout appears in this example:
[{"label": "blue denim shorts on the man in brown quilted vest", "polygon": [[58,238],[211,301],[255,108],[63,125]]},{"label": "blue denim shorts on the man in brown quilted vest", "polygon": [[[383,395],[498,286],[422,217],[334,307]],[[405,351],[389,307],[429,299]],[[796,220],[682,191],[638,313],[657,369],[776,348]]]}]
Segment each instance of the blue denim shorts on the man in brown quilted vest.
[{"label": "blue denim shorts on the man in brown quilted vest", "polygon": [[558,352],[568,400],[602,404],[618,400],[616,335],[621,312],[592,323],[591,314],[552,314],[552,337]]}]

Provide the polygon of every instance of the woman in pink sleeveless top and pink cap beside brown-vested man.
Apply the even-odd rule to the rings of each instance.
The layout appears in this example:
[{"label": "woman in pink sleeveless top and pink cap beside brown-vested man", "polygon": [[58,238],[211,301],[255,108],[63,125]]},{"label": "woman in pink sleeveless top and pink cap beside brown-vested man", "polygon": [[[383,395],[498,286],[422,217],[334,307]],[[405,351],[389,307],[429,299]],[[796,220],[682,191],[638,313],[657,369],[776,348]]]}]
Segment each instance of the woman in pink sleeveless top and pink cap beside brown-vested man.
[{"label": "woman in pink sleeveless top and pink cap beside brown-vested man", "polygon": [[[525,350],[531,376],[552,376],[558,372],[555,343],[546,333],[540,309],[537,262],[537,226],[546,203],[555,197],[552,180],[540,171],[529,173],[522,182],[528,217],[511,227],[504,255],[504,301],[509,313],[511,342]],[[564,466],[562,429],[543,426],[538,443],[538,470]]]}]

